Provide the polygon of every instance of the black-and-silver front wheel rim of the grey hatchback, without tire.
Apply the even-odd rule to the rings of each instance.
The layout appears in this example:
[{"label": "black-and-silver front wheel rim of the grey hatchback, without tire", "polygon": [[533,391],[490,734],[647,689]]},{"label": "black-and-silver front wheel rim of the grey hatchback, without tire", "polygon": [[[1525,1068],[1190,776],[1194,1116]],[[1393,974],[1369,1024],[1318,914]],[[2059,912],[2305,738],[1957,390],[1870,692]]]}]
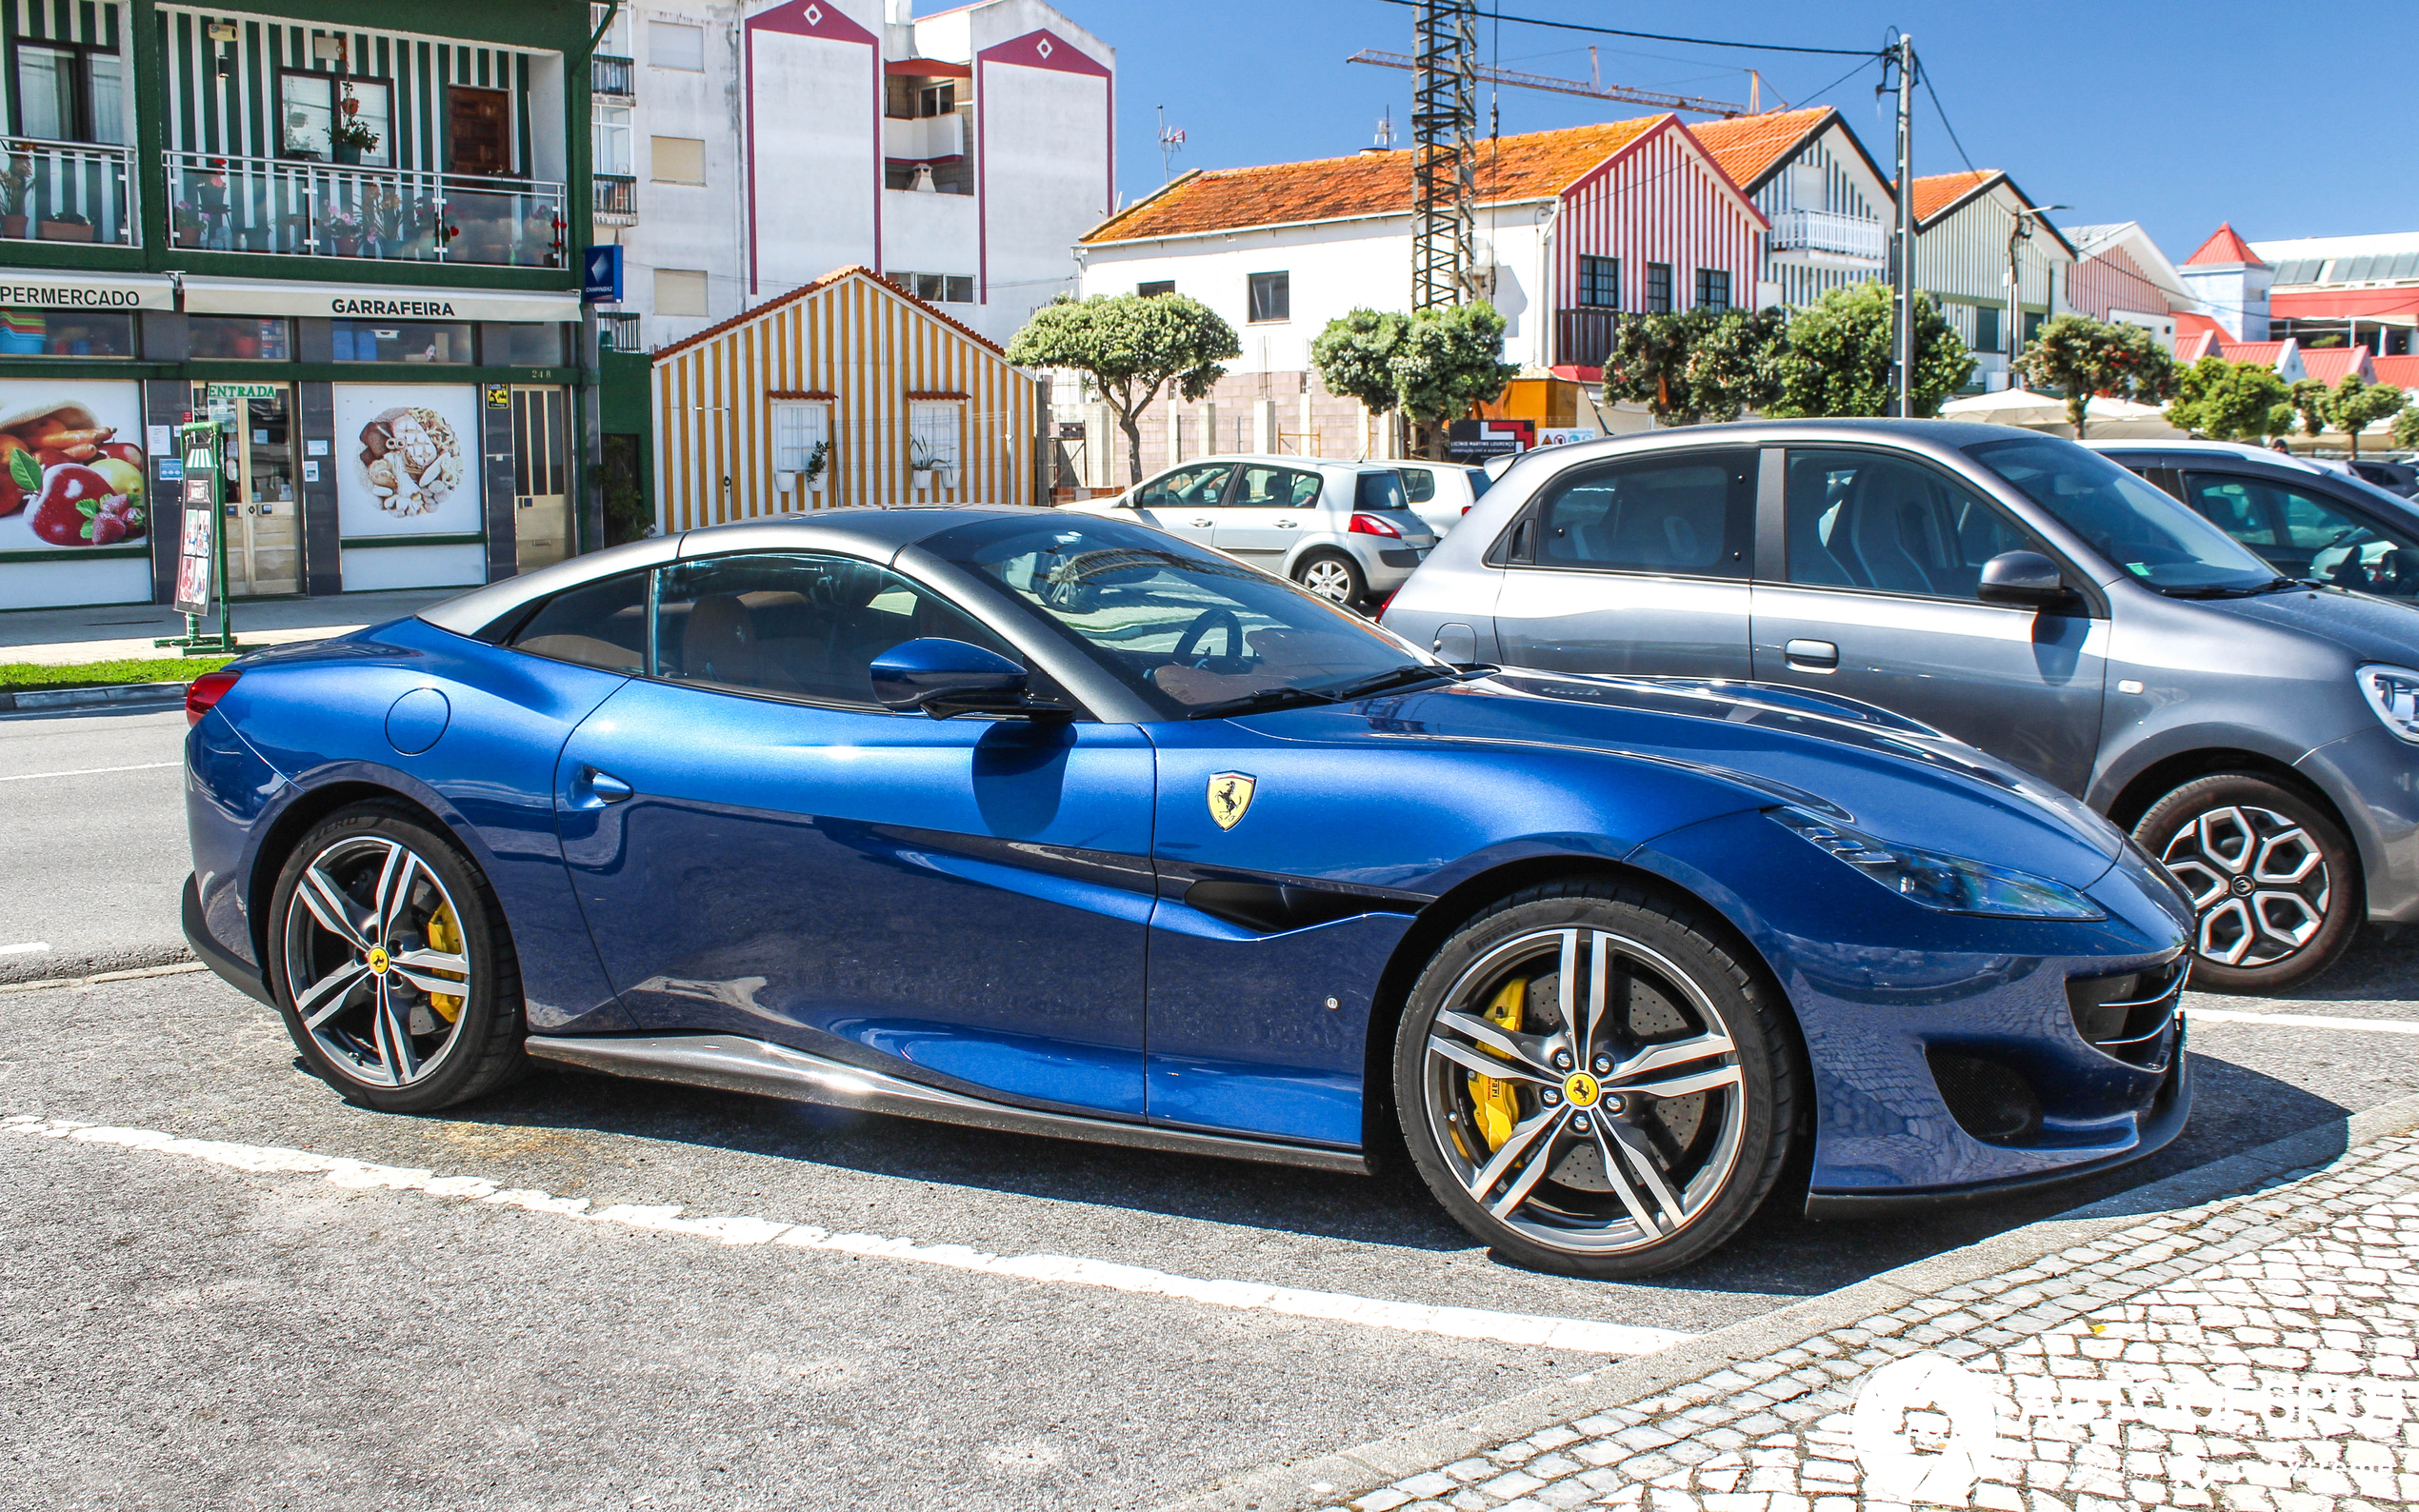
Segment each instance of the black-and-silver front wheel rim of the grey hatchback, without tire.
[{"label": "black-and-silver front wheel rim of the grey hatchback, without tire", "polygon": [[2317,939],[2334,900],[2327,854],[2274,808],[2199,813],[2160,861],[2192,898],[2196,953],[2218,965],[2276,965]]}]

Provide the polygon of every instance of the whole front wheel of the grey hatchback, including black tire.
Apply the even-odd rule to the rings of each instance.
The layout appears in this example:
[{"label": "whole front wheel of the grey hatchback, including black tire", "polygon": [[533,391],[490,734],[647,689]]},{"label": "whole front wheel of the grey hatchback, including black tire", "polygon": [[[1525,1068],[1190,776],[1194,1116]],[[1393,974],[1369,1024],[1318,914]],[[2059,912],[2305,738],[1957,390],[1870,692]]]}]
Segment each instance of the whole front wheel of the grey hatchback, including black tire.
[{"label": "whole front wheel of the grey hatchback, including black tire", "polygon": [[2284,992],[2344,958],[2368,912],[2361,856],[2293,789],[2221,772],[2150,806],[2134,839],[2192,895],[2192,985]]}]

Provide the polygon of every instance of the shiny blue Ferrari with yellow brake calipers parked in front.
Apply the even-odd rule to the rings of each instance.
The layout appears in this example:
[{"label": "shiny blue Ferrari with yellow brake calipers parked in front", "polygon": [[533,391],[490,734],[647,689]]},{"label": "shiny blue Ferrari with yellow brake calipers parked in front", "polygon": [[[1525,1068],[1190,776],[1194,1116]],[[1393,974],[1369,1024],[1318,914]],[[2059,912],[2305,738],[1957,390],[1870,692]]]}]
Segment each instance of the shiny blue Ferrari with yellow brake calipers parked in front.
[{"label": "shiny blue Ferrari with yellow brake calipers parked in front", "polygon": [[343,1096],[532,1060],[1364,1171],[1531,1265],[2184,1123],[2192,910],[1809,692],[1454,668],[1142,525],[830,510],[194,685],[186,936]]}]

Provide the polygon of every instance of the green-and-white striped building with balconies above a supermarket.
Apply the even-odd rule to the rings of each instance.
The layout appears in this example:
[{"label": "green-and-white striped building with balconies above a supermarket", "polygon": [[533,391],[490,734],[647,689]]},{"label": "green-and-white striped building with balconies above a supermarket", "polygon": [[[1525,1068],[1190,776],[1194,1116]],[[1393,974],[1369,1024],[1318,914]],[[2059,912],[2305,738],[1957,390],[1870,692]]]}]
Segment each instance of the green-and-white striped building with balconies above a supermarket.
[{"label": "green-and-white striped building with balconies above a supermarket", "polygon": [[235,598],[600,544],[605,10],[0,0],[0,610],[167,602],[186,416]]}]

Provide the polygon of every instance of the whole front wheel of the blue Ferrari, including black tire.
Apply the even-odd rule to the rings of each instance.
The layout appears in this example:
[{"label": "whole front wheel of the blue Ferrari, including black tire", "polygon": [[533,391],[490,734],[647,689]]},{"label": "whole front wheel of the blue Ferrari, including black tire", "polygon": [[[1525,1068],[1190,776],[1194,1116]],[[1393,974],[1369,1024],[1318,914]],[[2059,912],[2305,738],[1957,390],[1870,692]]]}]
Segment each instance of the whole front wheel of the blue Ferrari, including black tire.
[{"label": "whole front wheel of the blue Ferrari, including black tire", "polygon": [[[1565,951],[1565,931],[1584,943]],[[1589,1064],[1553,1064],[1558,1048],[1570,1050],[1560,963],[1580,963],[1572,975],[1584,982],[1572,992],[1584,1016],[1599,951],[1618,968],[1604,973],[1618,992],[1611,985],[1604,992]],[[1548,956],[1555,970],[1534,975]],[[1507,994],[1517,1009],[1505,1009]],[[1478,1064],[1512,1069],[1500,1050],[1488,1050],[1490,1062],[1466,1055],[1480,1040],[1454,1026],[1473,1018],[1466,1009],[1480,1002],[1495,1006],[1476,1016],[1497,1026],[1505,1023],[1497,1011],[1517,1014],[1517,1033],[1507,1038],[1536,1072],[1563,1074],[1560,1086],[1526,1072],[1473,1074]],[[1688,1265],[1754,1217],[1790,1159],[1805,1077],[1783,1011],[1763,973],[1669,898],[1611,881],[1514,893],[1444,941],[1410,992],[1393,1045],[1403,1144],[1437,1202],[1522,1265],[1606,1280]],[[1686,1052],[1715,1045],[1715,1031],[1725,1050]],[[1727,1086],[1672,1096],[1616,1093],[1621,1064],[1647,1052],[1662,1052],[1667,1064],[1633,1072],[1630,1089],[1734,1077]],[[1582,1069],[1589,1077],[1570,1074]],[[1606,1084],[1597,1086],[1592,1074]],[[1500,1101],[1507,1086],[1509,1106]],[[1534,1130],[1526,1154],[1505,1156],[1524,1130]],[[1488,1178],[1505,1159],[1512,1164]],[[1538,1171],[1543,1161],[1553,1164]],[[1505,1217],[1473,1185],[1497,1205],[1509,1200]]]}]

